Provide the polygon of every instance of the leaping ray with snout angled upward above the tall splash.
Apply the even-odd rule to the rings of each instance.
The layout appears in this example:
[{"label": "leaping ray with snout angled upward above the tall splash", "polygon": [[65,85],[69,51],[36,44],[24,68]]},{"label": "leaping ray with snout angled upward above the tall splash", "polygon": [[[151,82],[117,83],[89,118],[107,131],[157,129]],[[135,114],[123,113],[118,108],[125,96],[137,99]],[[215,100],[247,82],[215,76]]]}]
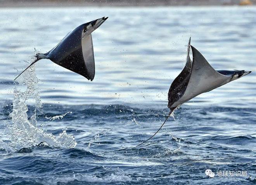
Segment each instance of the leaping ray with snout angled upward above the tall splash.
[{"label": "leaping ray with snout angled upward above the tall splash", "polygon": [[[78,73],[92,81],[95,75],[95,64],[91,33],[99,28],[107,18],[108,17],[102,17],[81,24],[73,31],[69,32],[54,48],[52,48],[52,50],[45,54],[36,54],[35,61],[24,71],[41,59],[50,59],[55,64],[65,67],[66,69]],[[22,73],[24,71],[22,71]],[[19,76],[21,74],[19,74]]]}]

